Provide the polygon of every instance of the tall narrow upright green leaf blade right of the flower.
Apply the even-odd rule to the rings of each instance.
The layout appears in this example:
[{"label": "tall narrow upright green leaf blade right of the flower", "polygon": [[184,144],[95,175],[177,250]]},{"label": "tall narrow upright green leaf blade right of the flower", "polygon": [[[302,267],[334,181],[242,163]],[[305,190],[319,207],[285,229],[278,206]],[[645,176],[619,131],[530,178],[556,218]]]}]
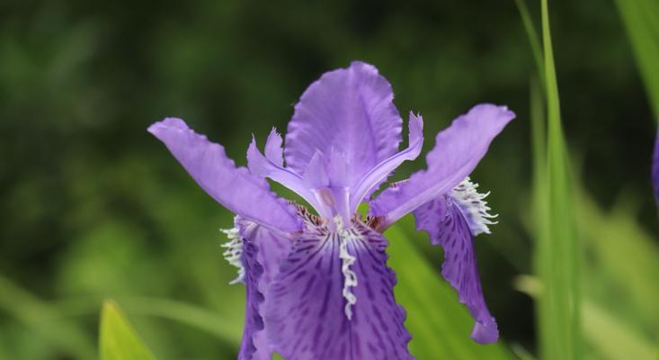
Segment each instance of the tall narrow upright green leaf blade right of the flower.
[{"label": "tall narrow upright green leaf blade right of the flower", "polygon": [[547,0],[541,0],[544,76],[547,100],[546,212],[539,214],[536,266],[540,354],[547,359],[581,357],[579,258],[567,149],[560,116]]}]

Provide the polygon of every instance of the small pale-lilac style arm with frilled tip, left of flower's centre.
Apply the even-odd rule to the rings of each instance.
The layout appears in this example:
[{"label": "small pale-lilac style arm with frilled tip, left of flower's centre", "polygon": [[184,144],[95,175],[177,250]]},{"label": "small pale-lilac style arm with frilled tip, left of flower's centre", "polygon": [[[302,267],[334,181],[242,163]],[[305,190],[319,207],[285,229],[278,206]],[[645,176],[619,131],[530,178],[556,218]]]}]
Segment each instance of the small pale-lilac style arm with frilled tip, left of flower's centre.
[{"label": "small pale-lilac style arm with frilled tip, left of flower's centre", "polygon": [[[272,133],[268,137],[268,142],[265,145],[266,156],[263,156],[256,146],[256,139],[254,137],[252,138],[252,142],[249,144],[249,148],[247,148],[247,166],[250,172],[257,176],[270,177],[273,181],[298,193],[305,201],[316,208],[317,202],[314,193],[308,189],[302,176],[278,165],[283,164],[283,158],[281,157],[281,138],[279,140],[277,138],[279,137],[273,136]],[[278,142],[280,146],[279,156],[275,148]]]}]

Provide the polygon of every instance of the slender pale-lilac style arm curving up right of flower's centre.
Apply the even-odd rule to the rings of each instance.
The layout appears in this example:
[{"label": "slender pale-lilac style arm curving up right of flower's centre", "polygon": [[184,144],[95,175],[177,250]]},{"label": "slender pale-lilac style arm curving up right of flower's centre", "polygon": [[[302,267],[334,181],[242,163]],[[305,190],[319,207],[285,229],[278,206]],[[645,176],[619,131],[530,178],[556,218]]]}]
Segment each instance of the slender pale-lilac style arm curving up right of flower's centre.
[{"label": "slender pale-lilac style arm curving up right of flower's centre", "polygon": [[411,161],[419,156],[423,148],[423,118],[421,115],[414,115],[413,112],[410,112],[409,128],[407,148],[372,167],[357,183],[351,194],[350,208],[352,211],[355,211],[369,193],[375,190],[392,171],[396,170],[396,167],[406,160]]}]

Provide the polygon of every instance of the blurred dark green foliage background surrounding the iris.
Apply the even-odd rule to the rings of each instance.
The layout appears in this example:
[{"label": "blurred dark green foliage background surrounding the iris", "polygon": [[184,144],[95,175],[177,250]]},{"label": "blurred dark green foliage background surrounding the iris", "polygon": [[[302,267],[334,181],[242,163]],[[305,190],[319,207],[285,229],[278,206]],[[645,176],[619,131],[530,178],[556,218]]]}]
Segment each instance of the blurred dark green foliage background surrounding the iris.
[{"label": "blurred dark green foliage background surrounding the iris", "polygon": [[[584,303],[594,304],[583,315],[587,354],[621,358],[606,347],[622,341],[616,331],[635,349],[659,344],[655,121],[615,4],[552,6]],[[94,358],[107,297],[159,359],[235,357],[244,289],[228,285],[236,269],[218,231],[231,214],[147,126],[181,117],[244,165],[252,133],[263,143],[273,125],[285,131],[307,85],[353,59],[387,76],[401,113],[423,114],[425,151],[473,104],[517,112],[472,176],[500,214],[476,253],[503,347],[535,354],[533,302],[521,291],[532,280],[520,277],[533,269],[535,64],[513,1],[9,0],[0,2],[0,359]],[[420,166],[422,157],[395,178]],[[443,282],[441,251],[404,225],[392,242],[411,242],[427,262],[396,260],[392,248],[392,266],[431,266],[429,281]],[[443,319],[454,303],[406,308]]]}]

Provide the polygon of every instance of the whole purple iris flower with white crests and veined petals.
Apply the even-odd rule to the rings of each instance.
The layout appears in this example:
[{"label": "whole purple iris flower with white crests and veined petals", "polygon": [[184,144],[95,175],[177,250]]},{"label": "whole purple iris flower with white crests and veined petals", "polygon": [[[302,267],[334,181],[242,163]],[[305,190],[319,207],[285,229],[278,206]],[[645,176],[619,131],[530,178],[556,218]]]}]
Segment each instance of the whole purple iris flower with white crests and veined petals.
[{"label": "whole purple iris flower with white crests and veined petals", "polygon": [[[515,115],[505,106],[474,106],[437,135],[426,170],[372,198],[423,146],[423,120],[410,112],[408,144],[399,150],[403,121],[393,98],[369,64],[325,73],[295,105],[286,147],[276,130],[263,153],[253,139],[248,169],[180,119],[149,127],[204,191],[236,213],[225,256],[246,287],[239,359],[269,359],[273,351],[296,360],[412,358],[382,235],[410,212],[416,229],[444,248],[441,274],[476,320],[472,338],[498,338],[473,246],[493,216],[468,175]],[[266,178],[317,214],[278,198]],[[356,212],[361,202],[370,203],[365,219]]]}]

